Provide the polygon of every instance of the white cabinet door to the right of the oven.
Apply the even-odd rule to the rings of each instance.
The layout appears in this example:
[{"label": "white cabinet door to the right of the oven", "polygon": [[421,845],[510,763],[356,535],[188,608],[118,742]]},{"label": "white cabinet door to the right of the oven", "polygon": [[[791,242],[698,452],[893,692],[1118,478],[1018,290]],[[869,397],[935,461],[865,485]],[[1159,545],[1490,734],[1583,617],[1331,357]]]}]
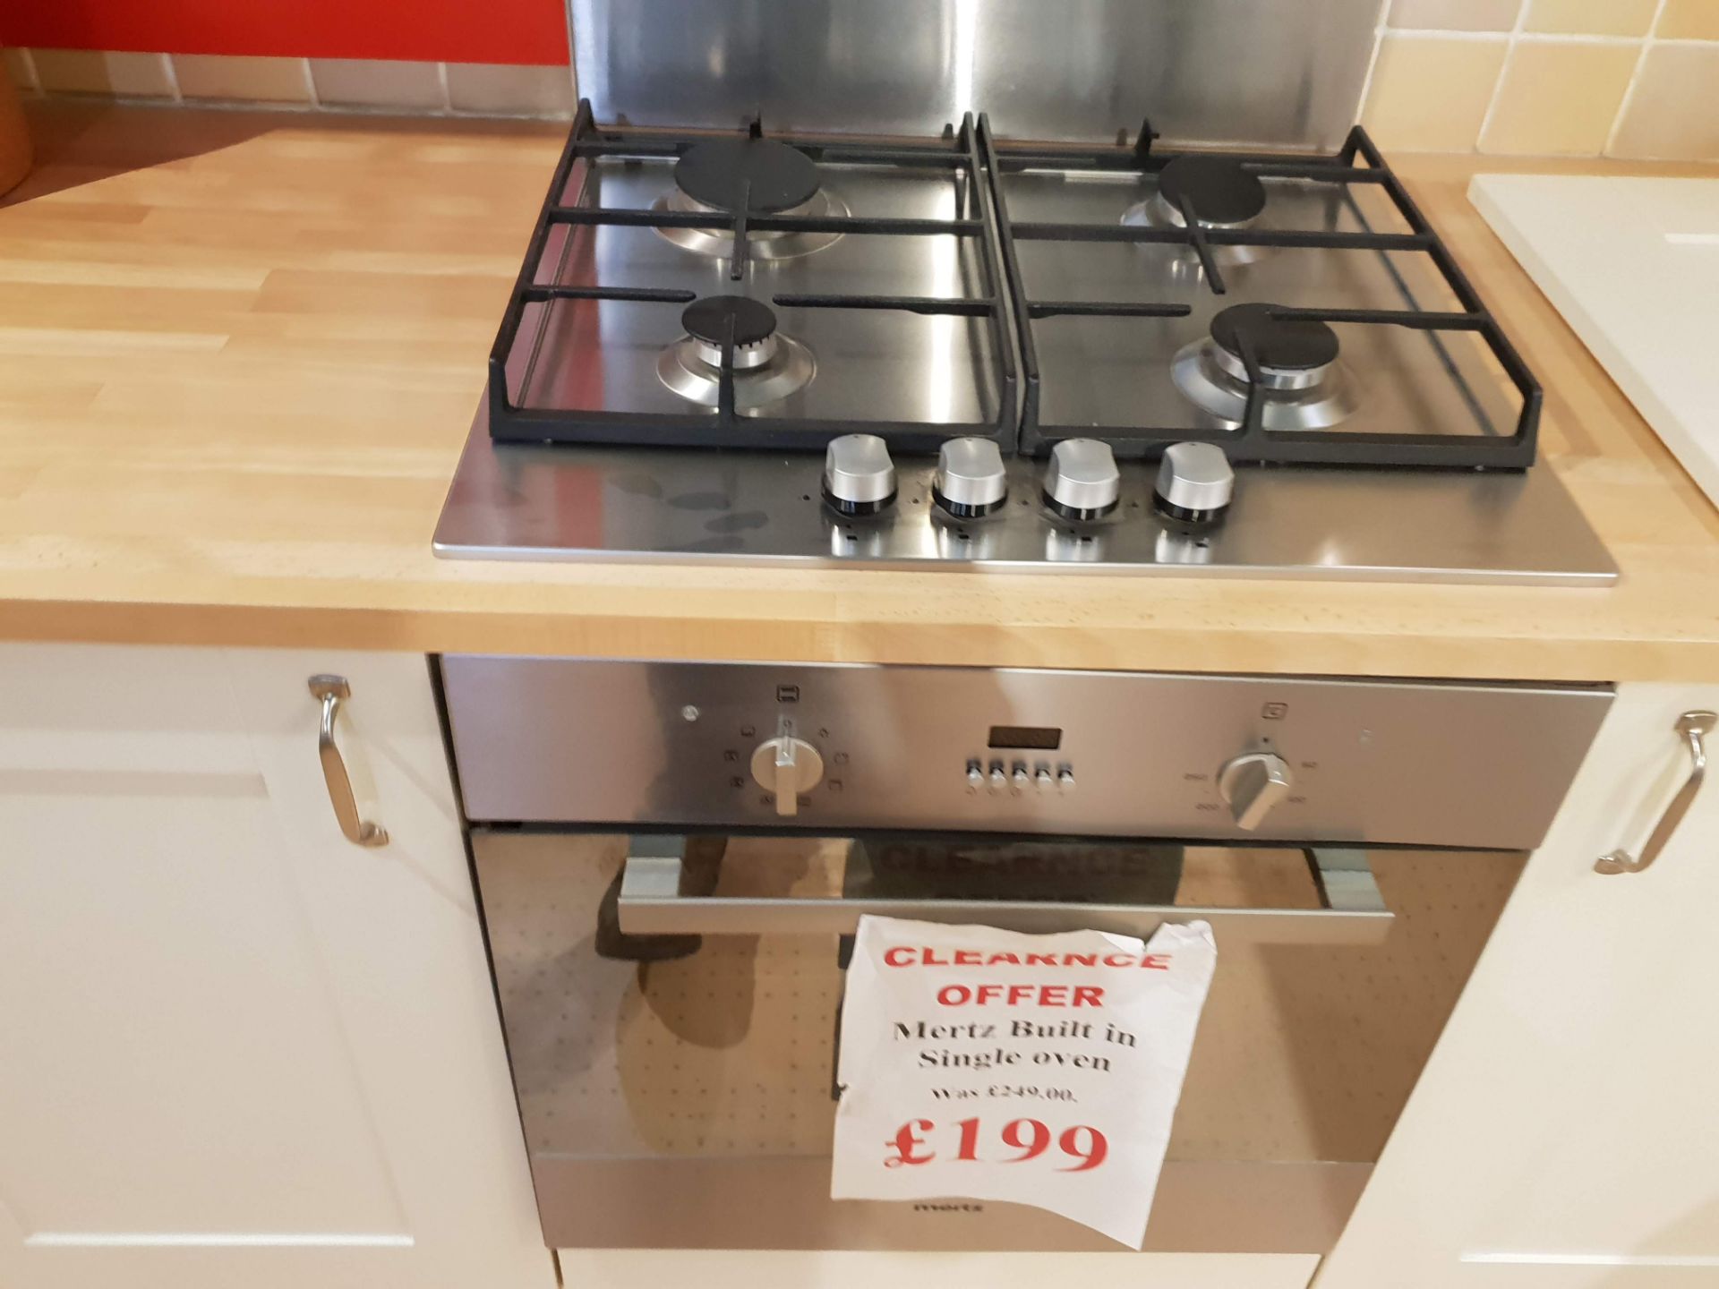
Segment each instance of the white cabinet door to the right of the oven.
[{"label": "white cabinet door to the right of the oven", "polygon": [[1688,779],[1719,686],[1624,686],[1317,1289],[1719,1284],[1719,784],[1606,877]]}]

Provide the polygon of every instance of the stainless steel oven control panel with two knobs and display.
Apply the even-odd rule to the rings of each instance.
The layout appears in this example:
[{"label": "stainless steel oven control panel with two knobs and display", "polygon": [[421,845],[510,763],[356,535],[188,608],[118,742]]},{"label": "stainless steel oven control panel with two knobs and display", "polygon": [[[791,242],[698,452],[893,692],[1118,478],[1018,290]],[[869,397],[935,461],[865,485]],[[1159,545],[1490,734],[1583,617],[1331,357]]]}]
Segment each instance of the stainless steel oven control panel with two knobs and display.
[{"label": "stainless steel oven control panel with two knobs and display", "polygon": [[1532,847],[1599,686],[449,655],[468,818]]}]

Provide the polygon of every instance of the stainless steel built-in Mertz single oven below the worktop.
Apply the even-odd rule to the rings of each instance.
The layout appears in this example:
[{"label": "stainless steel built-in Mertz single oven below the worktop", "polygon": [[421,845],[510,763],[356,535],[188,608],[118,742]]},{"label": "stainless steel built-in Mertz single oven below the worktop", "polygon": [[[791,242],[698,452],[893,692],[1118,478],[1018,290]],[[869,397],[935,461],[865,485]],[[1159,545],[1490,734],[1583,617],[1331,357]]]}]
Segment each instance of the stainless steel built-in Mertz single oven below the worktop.
[{"label": "stainless steel built-in Mertz single oven below the worktop", "polygon": [[865,913],[1219,964],[1148,1249],[1331,1248],[1611,691],[445,657],[545,1241],[1116,1248],[829,1198]]}]

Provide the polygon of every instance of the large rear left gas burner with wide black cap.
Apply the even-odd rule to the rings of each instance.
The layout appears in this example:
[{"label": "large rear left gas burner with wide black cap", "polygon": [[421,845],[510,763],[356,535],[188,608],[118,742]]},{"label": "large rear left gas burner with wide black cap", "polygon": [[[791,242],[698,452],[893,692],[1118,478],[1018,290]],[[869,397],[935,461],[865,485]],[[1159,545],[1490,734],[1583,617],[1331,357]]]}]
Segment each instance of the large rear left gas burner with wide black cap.
[{"label": "large rear left gas burner with wide black cap", "polygon": [[[694,143],[674,165],[674,191],[652,210],[682,215],[806,215],[846,217],[847,206],[818,182],[818,167],[798,148],[775,139],[710,139]],[[657,229],[688,251],[727,260],[734,234],[727,229]],[[792,260],[839,242],[839,232],[748,230],[748,251],[760,260]]]}]

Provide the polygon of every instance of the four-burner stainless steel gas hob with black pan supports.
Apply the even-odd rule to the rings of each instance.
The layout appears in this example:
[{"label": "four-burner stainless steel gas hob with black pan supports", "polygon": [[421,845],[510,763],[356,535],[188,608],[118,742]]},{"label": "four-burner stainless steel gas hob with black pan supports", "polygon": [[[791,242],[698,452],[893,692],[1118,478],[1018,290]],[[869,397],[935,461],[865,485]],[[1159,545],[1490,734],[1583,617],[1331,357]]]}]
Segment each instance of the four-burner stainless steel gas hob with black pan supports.
[{"label": "four-burner stainless steel gas hob with black pan supports", "polygon": [[581,105],[447,557],[1604,584],[1540,388],[1336,153]]}]

